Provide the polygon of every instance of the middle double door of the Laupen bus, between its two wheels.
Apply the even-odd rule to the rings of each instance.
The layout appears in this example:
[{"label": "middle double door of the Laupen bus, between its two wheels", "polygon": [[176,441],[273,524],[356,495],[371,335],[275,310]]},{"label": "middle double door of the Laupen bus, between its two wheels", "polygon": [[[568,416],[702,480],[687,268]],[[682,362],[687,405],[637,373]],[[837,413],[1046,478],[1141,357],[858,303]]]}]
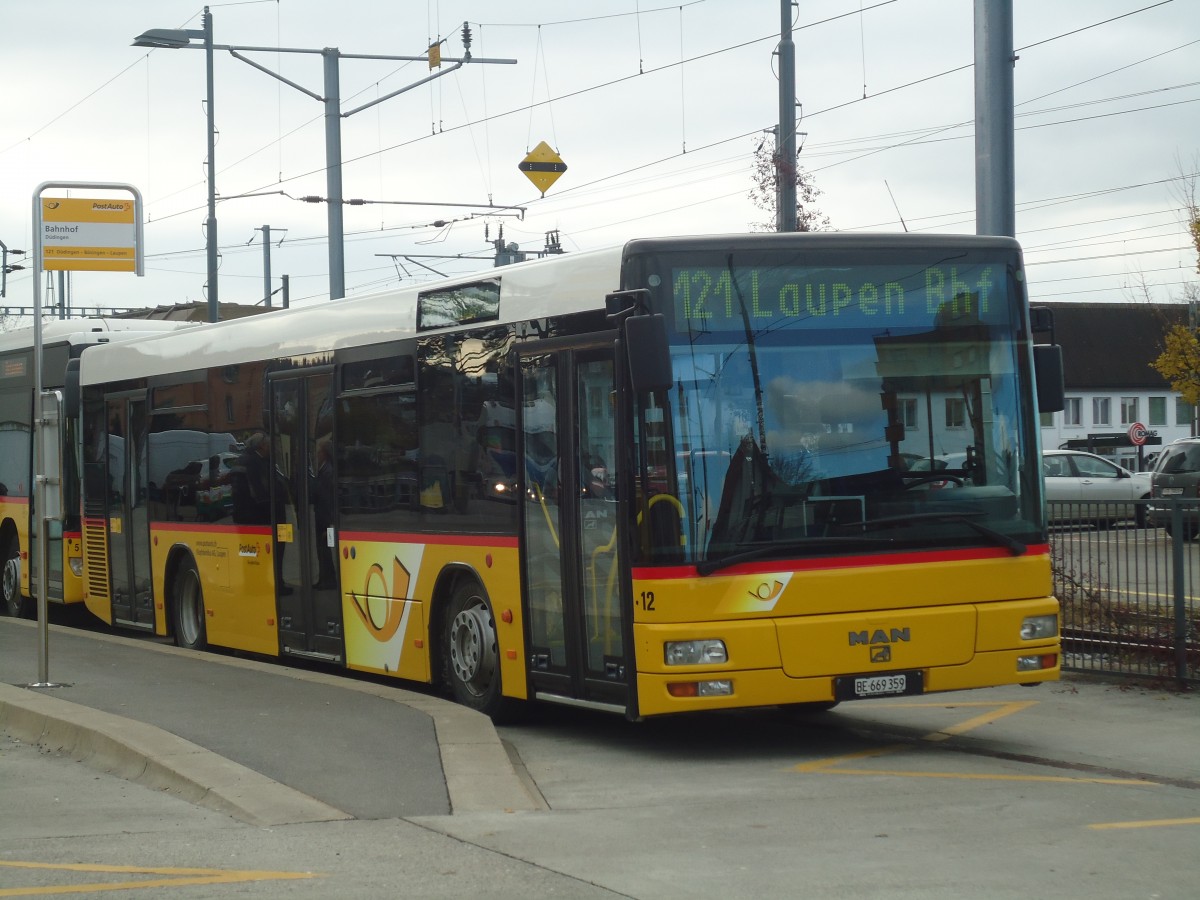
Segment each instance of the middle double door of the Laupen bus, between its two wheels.
[{"label": "middle double door of the Laupen bus, between its two wheels", "polygon": [[337,565],[332,374],[271,379],[272,526],[280,649],[344,659]]}]

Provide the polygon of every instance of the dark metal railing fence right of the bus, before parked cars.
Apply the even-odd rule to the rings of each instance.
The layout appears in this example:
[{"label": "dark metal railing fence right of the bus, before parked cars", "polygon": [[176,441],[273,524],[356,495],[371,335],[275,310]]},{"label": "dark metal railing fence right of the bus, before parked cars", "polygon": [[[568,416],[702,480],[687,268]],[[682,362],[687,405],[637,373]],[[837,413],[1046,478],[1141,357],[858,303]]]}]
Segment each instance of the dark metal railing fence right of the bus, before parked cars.
[{"label": "dark metal railing fence right of the bus, before parked cars", "polygon": [[1062,667],[1200,683],[1200,502],[1049,506]]}]

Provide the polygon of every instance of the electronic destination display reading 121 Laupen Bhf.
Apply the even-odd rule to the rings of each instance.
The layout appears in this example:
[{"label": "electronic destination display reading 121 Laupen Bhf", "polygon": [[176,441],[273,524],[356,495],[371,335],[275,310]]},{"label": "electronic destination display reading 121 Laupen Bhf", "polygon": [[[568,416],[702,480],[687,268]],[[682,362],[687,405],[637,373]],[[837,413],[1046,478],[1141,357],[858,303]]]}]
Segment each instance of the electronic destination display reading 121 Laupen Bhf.
[{"label": "electronic destination display reading 121 Laupen Bhf", "polygon": [[678,331],[929,328],[1008,317],[1007,268],[688,266],[671,272]]}]

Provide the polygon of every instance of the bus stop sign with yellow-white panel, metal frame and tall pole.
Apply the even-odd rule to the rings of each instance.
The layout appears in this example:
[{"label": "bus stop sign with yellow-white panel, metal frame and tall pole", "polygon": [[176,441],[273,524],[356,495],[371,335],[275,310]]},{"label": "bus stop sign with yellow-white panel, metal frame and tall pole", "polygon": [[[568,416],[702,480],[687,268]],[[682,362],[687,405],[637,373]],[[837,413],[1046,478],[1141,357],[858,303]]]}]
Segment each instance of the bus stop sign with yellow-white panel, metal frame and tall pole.
[{"label": "bus stop sign with yellow-white panel, metal frame and tall pole", "polygon": [[[122,191],[130,203],[109,199],[47,200],[48,190]],[[46,222],[47,212],[53,223]],[[132,212],[132,215],[130,215]],[[37,682],[30,688],[59,688],[50,682],[49,538],[50,522],[62,521],[62,454],[59,452],[62,395],[43,390],[42,270],[46,240],[52,239],[50,268],[61,270],[144,271],[142,194],[132,185],[108,181],[43,181],[34,191],[34,509],[37,568]],[[53,434],[53,451],[48,438]],[[54,464],[52,466],[52,460]],[[64,572],[65,577],[65,572]],[[20,586],[17,587],[20,590]]]}]

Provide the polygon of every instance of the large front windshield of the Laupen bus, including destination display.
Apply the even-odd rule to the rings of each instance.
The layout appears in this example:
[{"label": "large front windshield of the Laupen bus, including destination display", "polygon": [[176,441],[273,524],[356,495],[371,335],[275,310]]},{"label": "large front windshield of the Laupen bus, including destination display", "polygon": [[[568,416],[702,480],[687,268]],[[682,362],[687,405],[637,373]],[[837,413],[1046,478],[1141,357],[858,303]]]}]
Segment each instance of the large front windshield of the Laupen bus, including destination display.
[{"label": "large front windshield of the Laupen bus, including destination display", "polygon": [[1039,540],[1018,254],[847,256],[646,260],[674,385],[636,414],[640,562]]}]

